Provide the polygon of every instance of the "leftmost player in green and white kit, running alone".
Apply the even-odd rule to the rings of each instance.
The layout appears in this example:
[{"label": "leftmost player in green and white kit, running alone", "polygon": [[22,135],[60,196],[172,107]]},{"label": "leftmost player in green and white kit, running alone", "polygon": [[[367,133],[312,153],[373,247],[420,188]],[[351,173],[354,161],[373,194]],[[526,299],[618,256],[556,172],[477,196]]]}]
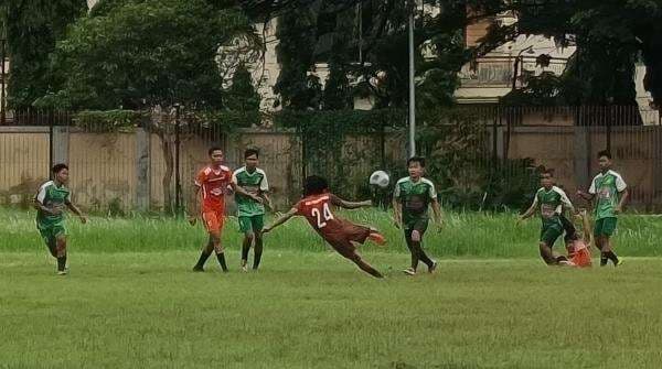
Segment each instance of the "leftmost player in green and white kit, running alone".
[{"label": "leftmost player in green and white kit, running alone", "polygon": [[65,164],[53,166],[53,181],[41,185],[34,196],[36,208],[36,229],[49,247],[53,258],[57,259],[57,274],[66,274],[66,227],[64,225],[64,208],[81,218],[83,224],[87,218],[72,204],[72,193],[66,187],[68,167]]}]

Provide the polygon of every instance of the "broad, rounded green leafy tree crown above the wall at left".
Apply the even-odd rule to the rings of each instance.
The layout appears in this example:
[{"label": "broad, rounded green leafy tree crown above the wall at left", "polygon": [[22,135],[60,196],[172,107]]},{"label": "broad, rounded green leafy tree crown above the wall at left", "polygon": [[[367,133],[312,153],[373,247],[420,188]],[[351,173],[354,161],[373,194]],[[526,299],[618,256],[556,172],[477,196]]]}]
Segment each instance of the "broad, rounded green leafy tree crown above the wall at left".
[{"label": "broad, rounded green leafy tree crown above the wall at left", "polygon": [[[50,104],[143,109],[220,107],[220,46],[254,31],[237,9],[203,0],[126,1],[81,18],[57,44],[64,79]],[[47,100],[46,100],[47,101]]]}]

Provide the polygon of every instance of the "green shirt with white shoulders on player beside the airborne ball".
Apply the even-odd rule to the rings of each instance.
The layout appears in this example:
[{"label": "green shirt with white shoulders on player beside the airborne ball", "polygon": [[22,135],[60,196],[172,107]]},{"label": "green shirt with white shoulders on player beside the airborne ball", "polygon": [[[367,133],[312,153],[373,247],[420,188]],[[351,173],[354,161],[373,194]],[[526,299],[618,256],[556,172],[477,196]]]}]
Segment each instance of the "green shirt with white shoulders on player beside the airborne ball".
[{"label": "green shirt with white shoulders on player beside the airborne ball", "polygon": [[395,184],[393,197],[403,204],[403,223],[407,225],[418,219],[429,219],[428,207],[437,198],[437,191],[428,178],[414,182],[410,177],[404,177]]}]

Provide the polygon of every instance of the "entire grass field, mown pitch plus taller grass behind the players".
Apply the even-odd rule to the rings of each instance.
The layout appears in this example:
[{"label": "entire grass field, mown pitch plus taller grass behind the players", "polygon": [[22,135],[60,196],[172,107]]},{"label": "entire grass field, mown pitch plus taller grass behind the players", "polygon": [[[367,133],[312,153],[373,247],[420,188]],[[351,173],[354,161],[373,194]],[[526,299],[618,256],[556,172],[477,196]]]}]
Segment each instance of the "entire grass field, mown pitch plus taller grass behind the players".
[{"label": "entire grass field, mown pitch plus taller grass behind the players", "polygon": [[[263,269],[189,272],[201,228],[149,218],[71,223],[71,273],[32,214],[0,210],[0,368],[659,368],[659,218],[623,217],[619,269],[547,268],[537,221],[449,215],[428,248],[439,272],[407,278],[408,256],[384,228],[363,253],[385,280],[325,251],[307,225],[270,235]],[[306,226],[306,227],[303,227]]]}]

